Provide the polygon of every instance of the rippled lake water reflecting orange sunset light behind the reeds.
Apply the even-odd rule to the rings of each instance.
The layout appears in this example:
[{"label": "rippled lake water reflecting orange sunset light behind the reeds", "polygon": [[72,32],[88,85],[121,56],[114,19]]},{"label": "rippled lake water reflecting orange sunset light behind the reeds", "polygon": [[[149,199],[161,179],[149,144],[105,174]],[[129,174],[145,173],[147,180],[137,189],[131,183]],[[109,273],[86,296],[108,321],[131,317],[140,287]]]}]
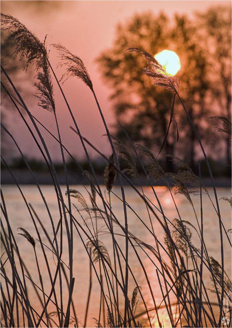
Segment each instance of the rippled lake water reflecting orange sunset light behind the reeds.
[{"label": "rippled lake water reflecting orange sunset light behind the reeds", "polygon": [[[35,212],[37,213],[38,217],[43,222],[47,232],[50,234],[50,236],[53,236],[52,233],[52,226],[51,221],[48,216],[48,213],[46,211],[45,205],[42,201],[41,195],[38,192],[38,189],[34,185],[22,185],[21,186],[23,194],[25,195],[28,203],[31,203]],[[85,188],[83,186],[70,186],[70,189],[76,189],[78,190],[86,199],[88,205],[91,207],[91,203],[89,200],[89,195]],[[39,284],[39,278],[38,273],[36,269],[36,262],[35,262],[35,256],[33,252],[33,248],[30,245],[30,243],[23,237],[18,235],[17,233],[20,233],[20,231],[17,231],[18,227],[22,227],[26,229],[33,237],[36,238],[36,231],[33,225],[33,222],[30,218],[28,209],[25,205],[25,202],[20,195],[17,187],[12,185],[3,185],[2,186],[3,195],[5,198],[6,206],[7,206],[7,212],[9,216],[9,220],[11,223],[11,228],[13,233],[15,234],[15,239],[17,242],[17,245],[19,247],[20,253],[22,258],[24,259],[24,262],[29,269],[34,281]],[[60,218],[58,206],[57,206],[57,198],[54,191],[53,186],[49,185],[42,185],[41,190],[43,192],[43,195],[45,196],[45,199],[47,201],[48,207],[50,209],[51,215],[53,217],[54,226],[56,227]],[[66,187],[61,186],[62,193],[65,196]],[[102,186],[102,190],[104,190],[104,187]],[[215,204],[215,198],[213,189],[208,188],[209,193],[211,195],[211,199],[213,200],[213,203]],[[152,192],[152,189],[150,187],[143,187],[144,194],[150,199],[152,203],[154,203],[156,206],[158,206],[157,200],[155,198],[155,195]],[[173,220],[174,218],[178,217],[177,210],[175,209],[175,206],[173,204],[171,195],[166,187],[155,187],[155,191],[158,195],[158,198],[160,200],[160,203],[162,205],[163,211],[165,216],[169,220]],[[120,197],[120,187],[113,187],[113,192]],[[173,193],[174,194],[174,193]],[[137,213],[137,215],[144,221],[144,223],[151,229],[151,224],[149,221],[149,216],[147,213],[147,209],[144,205],[144,202],[141,198],[133,191],[130,187],[125,187],[125,195],[126,195],[126,201],[130,206],[133,208],[133,210]],[[218,198],[221,197],[228,197],[230,198],[231,195],[231,189],[230,188],[217,188],[217,195]],[[174,196],[179,214],[182,218],[182,220],[187,220],[190,223],[192,223],[195,227],[197,227],[196,218],[194,215],[194,212],[192,210],[191,205],[189,204],[188,200],[183,195],[175,195]],[[194,203],[194,207],[196,209],[197,216],[200,220],[200,196],[192,196],[192,200]],[[80,204],[74,199],[74,204],[78,207],[80,207]],[[97,198],[97,204],[98,207],[101,209],[104,209],[101,200],[98,197]],[[119,222],[123,225],[124,224],[124,213],[123,213],[123,205],[120,199],[118,199],[116,196],[111,196],[111,204],[113,213],[116,215]],[[228,202],[225,200],[220,200],[220,211],[221,211],[221,219],[225,226],[225,229],[231,228],[231,207]],[[68,203],[67,203],[68,206]],[[74,210],[74,216],[78,220],[78,222],[81,224],[81,226],[84,228],[84,222],[80,215],[78,213],[75,213]],[[161,214],[156,210],[157,215],[159,218],[161,217]],[[144,227],[143,223],[138,219],[138,217],[130,210],[127,210],[128,214],[128,230],[135,235],[137,238],[141,239],[145,243],[152,245],[156,248],[156,244],[154,241],[154,238],[149,233],[149,231]],[[86,212],[82,212],[83,218],[86,219],[88,217],[88,214]],[[161,243],[163,243],[163,228],[157,221],[157,219],[151,215],[151,220],[153,222],[154,231],[157,236],[157,238],[160,240]],[[4,221],[4,219],[3,219]],[[91,229],[92,223],[90,220],[87,221],[88,227]],[[103,225],[103,222],[99,221],[97,223],[98,229],[101,228]],[[6,224],[4,224],[6,226]],[[219,221],[218,217],[216,215],[216,212],[213,208],[213,205],[211,201],[209,200],[207,195],[203,195],[203,226],[204,226],[204,241],[208,249],[209,255],[212,255],[215,259],[217,259],[219,262],[221,262],[221,246],[220,246],[220,232],[219,232]],[[191,227],[190,227],[191,228]],[[85,228],[86,229],[86,228]],[[64,227],[65,230],[65,227]],[[197,236],[197,233],[195,233],[194,229],[192,229],[193,236],[192,236],[192,242],[196,247],[200,248],[200,242],[199,237]],[[39,229],[41,233],[41,237],[43,242],[49,246],[49,243],[44,236],[42,229]],[[114,227],[114,232],[117,233],[116,235],[117,241],[122,248],[122,250],[125,249],[125,239],[123,236],[120,236],[121,230],[119,227]],[[83,237],[84,242],[86,243],[88,240],[86,236],[81,232],[81,236]],[[68,244],[67,244],[67,238],[65,237],[65,233],[63,234],[64,243],[63,243],[63,260],[68,265]],[[107,230],[104,230],[104,227],[102,228],[102,231],[99,234],[99,240],[102,241],[105,246],[107,247],[109,251],[109,255],[111,258],[111,261],[113,263],[113,250],[112,250],[112,239],[110,238]],[[229,247],[228,241],[226,240],[226,236],[223,232],[223,241],[224,241],[224,260],[225,260],[225,271],[230,276],[231,275],[231,249]],[[51,246],[50,246],[51,247]],[[44,288],[45,290],[49,291],[51,290],[51,284],[50,280],[47,274],[46,270],[46,264],[44,263],[43,254],[41,250],[39,249],[39,242],[36,241],[36,249],[37,249],[37,255],[40,262],[40,268],[41,272],[44,276]],[[148,278],[151,284],[151,287],[153,289],[154,296],[156,298],[156,303],[159,304],[162,295],[160,293],[160,288],[158,284],[157,274],[156,270],[154,268],[154,265],[151,263],[147,255],[141,250],[136,248],[137,252],[139,253],[139,256],[142,259],[142,262],[144,264],[144,267],[146,268],[146,272],[148,274]],[[3,253],[3,247],[1,247],[1,252]],[[161,250],[162,252],[162,250]],[[49,263],[51,265],[51,270],[54,272],[55,270],[55,261],[53,260],[53,256],[51,252],[48,250],[48,259]],[[161,253],[163,256],[163,259],[169,264],[169,260],[164,252]],[[149,256],[154,260],[154,262],[157,262],[157,259],[155,256],[151,253],[149,253]],[[77,233],[77,231],[74,229],[74,277],[75,277],[75,284],[74,284],[74,293],[73,293],[73,299],[75,303],[76,308],[76,314],[79,320],[82,322],[84,321],[84,313],[85,313],[85,307],[86,307],[86,300],[88,295],[88,286],[89,286],[89,259],[86,254],[85,248],[83,246],[83,243],[81,242],[81,239]],[[122,260],[123,263],[123,260]],[[152,308],[154,306],[154,303],[152,301],[151,294],[149,292],[149,288],[146,283],[146,278],[144,276],[143,270],[137,260],[137,257],[135,256],[135,253],[131,246],[129,246],[129,265],[132,268],[133,274],[137,280],[137,283],[139,286],[141,286],[141,292],[144,296],[144,299],[146,301],[147,307]],[[97,267],[97,266],[96,266]],[[123,270],[125,268],[123,267]],[[68,272],[68,269],[67,269]],[[98,318],[98,309],[99,309],[99,303],[100,303],[100,288],[97,282],[97,279],[95,277],[95,274],[93,272],[93,287],[91,291],[91,301],[90,301],[90,309],[89,309],[89,316],[88,316],[88,327],[94,327],[94,320],[91,319],[92,317]],[[210,287],[210,279],[208,272],[203,272],[203,279],[205,282],[205,285],[207,287]],[[30,283],[28,281],[28,285],[30,286]],[[66,283],[63,282],[64,287],[64,299],[67,296],[67,292],[65,290]],[[132,292],[135,288],[136,284],[132,278],[132,276],[129,276],[129,287],[128,290],[130,291],[129,294],[132,296]],[[107,289],[107,286],[104,286],[105,290]],[[107,293],[106,293],[107,294]],[[120,296],[120,302],[123,304],[124,298],[122,293],[119,292]],[[212,296],[212,301],[215,299],[213,294],[210,294]],[[35,292],[32,287],[29,288],[29,297],[31,299],[34,298],[35,307],[39,306],[36,302],[37,298],[35,295]],[[140,313],[144,310],[144,306],[141,302],[141,297],[138,296],[139,303],[137,306],[137,313]],[[173,299],[175,301],[175,299]],[[33,302],[32,302],[33,303]],[[54,311],[55,309],[51,306],[49,311]],[[153,313],[154,314],[154,313]],[[167,314],[164,310],[160,310],[160,318],[163,320],[164,327],[170,326],[170,321],[168,319]],[[146,322],[146,316],[143,316],[143,318],[138,318],[140,322],[143,322],[145,324]],[[153,326],[157,327],[157,322],[154,319],[152,321]],[[103,322],[102,322],[103,324]]]}]

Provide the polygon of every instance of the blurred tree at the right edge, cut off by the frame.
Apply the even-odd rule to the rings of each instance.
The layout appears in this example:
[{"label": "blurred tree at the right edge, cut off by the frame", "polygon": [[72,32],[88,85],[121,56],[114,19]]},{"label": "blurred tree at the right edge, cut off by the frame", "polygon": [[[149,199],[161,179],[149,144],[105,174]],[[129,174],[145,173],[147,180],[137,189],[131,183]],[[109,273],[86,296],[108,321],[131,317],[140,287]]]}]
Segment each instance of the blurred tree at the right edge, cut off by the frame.
[{"label": "blurred tree at the right edge, cut off by the frame", "polygon": [[[213,96],[210,106],[216,105],[219,115],[231,121],[231,7],[209,9],[198,17]],[[226,134],[222,138],[226,144],[226,163],[231,165],[231,142]]]}]

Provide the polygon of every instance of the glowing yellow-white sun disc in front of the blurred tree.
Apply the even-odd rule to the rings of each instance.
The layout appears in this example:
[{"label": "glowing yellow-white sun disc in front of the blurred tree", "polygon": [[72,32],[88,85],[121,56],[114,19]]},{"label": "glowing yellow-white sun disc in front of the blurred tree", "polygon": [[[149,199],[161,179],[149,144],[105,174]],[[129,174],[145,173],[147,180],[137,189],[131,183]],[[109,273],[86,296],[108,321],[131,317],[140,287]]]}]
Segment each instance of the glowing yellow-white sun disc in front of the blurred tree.
[{"label": "glowing yellow-white sun disc in front of the blurred tree", "polygon": [[160,51],[155,55],[155,58],[170,76],[175,75],[180,69],[180,60],[174,51]]}]

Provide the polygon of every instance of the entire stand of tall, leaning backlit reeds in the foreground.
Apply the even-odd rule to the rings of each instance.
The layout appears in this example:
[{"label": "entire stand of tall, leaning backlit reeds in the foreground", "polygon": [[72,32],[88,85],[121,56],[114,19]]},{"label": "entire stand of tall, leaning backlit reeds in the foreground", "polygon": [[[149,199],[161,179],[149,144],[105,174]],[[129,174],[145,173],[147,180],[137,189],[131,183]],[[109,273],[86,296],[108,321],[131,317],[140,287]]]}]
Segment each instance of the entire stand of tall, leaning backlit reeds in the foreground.
[{"label": "entire stand of tall, leaning backlit reeds in the foreground", "polygon": [[[34,85],[38,89],[38,93],[35,95],[39,100],[38,105],[50,111],[54,116],[58,138],[56,138],[52,132],[48,131],[42,123],[30,113],[23,98],[14,86],[11,77],[8,76],[4,67],[1,66],[2,72],[5,74],[11,87],[9,88],[3,83],[2,86],[5,88],[8,96],[20,113],[21,119],[25,122],[25,128],[29,130],[31,137],[35,140],[52,176],[59,213],[59,220],[57,223],[57,220],[53,217],[49,209],[49,205],[43,195],[41,187],[36,180],[36,175],[32,172],[17,141],[7,128],[1,124],[2,129],[9,134],[17,146],[20,155],[34,178],[35,185],[41,195],[41,203],[44,203],[52,227],[52,233],[49,234],[41,218],[33,208],[33,205],[28,203],[9,165],[1,156],[24,199],[36,231],[36,236],[31,236],[26,227],[18,228],[23,232],[19,233],[19,235],[25,237],[27,242],[32,246],[28,246],[28,252],[30,252],[30,250],[34,252],[37,276],[39,277],[40,283],[40,285],[36,283],[34,273],[30,272],[30,268],[27,267],[23,256],[20,254],[20,249],[15,239],[15,234],[17,234],[17,232],[12,230],[11,218],[8,216],[4,195],[1,191],[1,242],[4,247],[4,253],[1,256],[1,326],[88,327],[88,318],[91,317],[90,301],[95,275],[95,281],[100,287],[99,299],[96,300],[96,302],[99,302],[98,317],[93,318],[95,320],[95,327],[142,327],[142,325],[146,326],[146,324],[150,327],[157,325],[159,327],[164,327],[164,310],[166,311],[165,315],[169,318],[169,324],[172,327],[221,327],[222,325],[230,327],[231,306],[229,305],[229,310],[225,310],[223,301],[226,297],[228,302],[231,302],[231,280],[224,271],[223,248],[225,243],[231,246],[228,236],[231,229],[227,229],[221,220],[217,192],[207,156],[198,133],[179,97],[179,78],[175,76],[169,77],[158,61],[148,52],[137,48],[128,49],[129,51],[140,52],[146,57],[151,69],[144,68],[143,71],[145,74],[152,77],[154,84],[174,92],[173,104],[172,106],[170,104],[171,115],[169,126],[172,122],[175,96],[177,96],[182,103],[183,110],[186,112],[190,124],[196,133],[204,159],[207,163],[214,188],[215,200],[210,198],[207,188],[202,185],[200,163],[199,176],[197,176],[181,159],[167,154],[181,170],[177,174],[165,173],[159,165],[156,156],[143,145],[134,145],[123,127],[122,129],[131,144],[130,152],[134,152],[134,156],[130,154],[120,140],[110,134],[97,101],[93,83],[83,61],[77,55],[72,54],[60,44],[52,45],[58,52],[58,58],[60,59],[58,66],[64,67],[66,70],[61,79],[58,80],[49,61],[46,38],[41,42],[22,23],[10,15],[1,14],[1,19],[2,29],[4,31],[10,31],[8,41],[15,42],[16,44],[12,56],[17,56],[18,53],[20,53],[21,58],[26,59],[26,68],[29,64],[35,66],[37,82],[35,82]],[[97,109],[102,117],[106,135],[112,148],[112,155],[109,158],[84,138],[78,129],[76,119],[74,118],[60,84],[61,80],[63,80],[64,83],[65,79],[71,77],[82,80],[93,93]],[[83,170],[74,159],[72,150],[69,150],[68,147],[62,144],[59,133],[59,122],[56,117],[53,78],[59,86],[68,112],[74,122],[75,128],[72,128],[73,131],[70,130],[70,133],[75,132],[80,138],[91,172]],[[20,111],[22,108],[26,111],[27,116],[22,115]],[[220,131],[231,133],[230,122],[225,118],[214,116],[209,119],[221,121],[222,129]],[[28,121],[33,125],[36,133],[32,131]],[[48,147],[44,142],[43,133],[45,132],[49,132],[60,145],[67,187],[65,195],[62,193],[54,163]],[[99,185],[97,181],[86,144],[91,146],[108,163],[104,173],[105,186]],[[163,145],[160,152],[162,151]],[[86,199],[80,191],[73,188],[70,189],[64,150],[72,157],[76,165],[81,169],[83,175],[85,175],[89,181],[90,187],[83,187],[89,195],[91,206],[88,205],[89,200]],[[147,158],[147,164],[143,164],[139,154]],[[134,157],[137,158],[139,165],[141,165],[147,177],[157,200],[157,206],[146,196],[144,188],[141,185],[138,187],[140,182]],[[119,158],[123,158],[127,163],[126,169],[120,169]],[[118,175],[120,184],[120,196],[115,194],[113,188],[116,175]],[[137,178],[136,186],[131,181],[130,176]],[[168,177],[170,176],[175,181],[175,189],[169,185]],[[160,178],[166,183],[178,218],[170,218],[165,215],[162,203],[158,199],[153,187],[153,183]],[[123,185],[124,179],[142,200],[147,217],[140,217],[132,205],[127,202]],[[188,189],[186,184],[190,184],[195,189]],[[203,231],[202,190],[210,198],[212,206],[218,216],[218,229],[221,238],[221,259],[217,260],[208,253],[205,245],[207,236]],[[196,227],[186,218],[181,217],[177,204],[175,203],[173,192],[174,194],[182,194],[188,199],[196,217]],[[192,194],[200,195],[200,217],[196,214],[191,199]],[[65,196],[68,199],[68,203]],[[123,223],[121,217],[118,217],[116,209],[112,205],[112,197],[117,197],[121,203],[124,215]],[[229,201],[231,204],[231,199],[224,197],[224,200]],[[214,205],[214,202],[216,205]],[[149,245],[147,240],[141,240],[128,230],[129,211],[132,211],[137,221],[143,225],[144,231],[152,238],[153,246]],[[88,215],[90,224],[88,224],[85,218],[86,214]],[[147,218],[149,225],[146,223]],[[155,227],[157,225],[160,225],[163,229],[163,238],[161,239],[157,238],[155,234]],[[200,248],[192,242],[192,233],[195,231],[199,236]],[[100,240],[103,232],[107,233],[108,239],[112,241],[111,250]],[[75,238],[78,237],[78,242],[82,244],[86,252],[86,257],[89,258],[89,288],[87,291],[86,310],[82,318],[77,318],[75,299],[73,297],[74,291],[78,289],[78,286],[75,284],[74,272],[74,235]],[[124,245],[120,242],[121,238],[124,240]],[[38,257],[38,252],[40,252],[42,256]],[[135,268],[131,266],[131,254],[133,254],[133,257],[137,260],[144,274],[147,291],[153,303],[152,306],[146,301],[147,295],[144,294],[143,289],[139,286],[139,281],[135,275]],[[145,261],[144,256],[146,258]],[[155,290],[151,283],[147,261],[152,265],[153,271],[156,273],[156,281],[160,290],[159,295],[161,295],[161,301],[158,301],[158,299],[160,299],[157,296],[158,288]],[[79,269],[82,270],[81,265]],[[203,272],[207,272],[208,276],[210,276],[212,281],[211,286],[205,284]],[[50,288],[46,290],[44,288],[45,279],[50,281]],[[131,281],[133,281],[133,284]],[[31,296],[32,290],[33,297]],[[216,294],[217,301],[211,301],[212,293]],[[80,297],[83,296],[80,295]],[[124,299],[124,304],[122,304],[120,300],[122,298]],[[142,312],[138,311],[137,304],[139,300],[141,300],[144,308]],[[51,309],[52,311],[50,311]],[[144,315],[147,316],[147,319],[144,319]]]}]

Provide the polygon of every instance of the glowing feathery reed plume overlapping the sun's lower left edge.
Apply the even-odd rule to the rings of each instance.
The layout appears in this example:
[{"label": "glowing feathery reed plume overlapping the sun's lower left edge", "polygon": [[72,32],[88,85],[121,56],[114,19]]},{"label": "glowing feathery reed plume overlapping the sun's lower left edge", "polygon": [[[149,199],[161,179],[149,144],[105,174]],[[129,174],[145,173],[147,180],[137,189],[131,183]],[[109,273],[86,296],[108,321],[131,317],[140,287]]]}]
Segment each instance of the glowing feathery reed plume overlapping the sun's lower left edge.
[{"label": "glowing feathery reed plume overlapping the sun's lower left edge", "polygon": [[139,48],[129,48],[127,50],[140,52],[147,59],[149,65],[152,67],[152,70],[150,70],[149,67],[145,67],[143,68],[143,73],[151,76],[155,85],[174,91],[175,93],[179,93],[180,78],[177,76],[168,76],[162,65],[152,54]]}]

